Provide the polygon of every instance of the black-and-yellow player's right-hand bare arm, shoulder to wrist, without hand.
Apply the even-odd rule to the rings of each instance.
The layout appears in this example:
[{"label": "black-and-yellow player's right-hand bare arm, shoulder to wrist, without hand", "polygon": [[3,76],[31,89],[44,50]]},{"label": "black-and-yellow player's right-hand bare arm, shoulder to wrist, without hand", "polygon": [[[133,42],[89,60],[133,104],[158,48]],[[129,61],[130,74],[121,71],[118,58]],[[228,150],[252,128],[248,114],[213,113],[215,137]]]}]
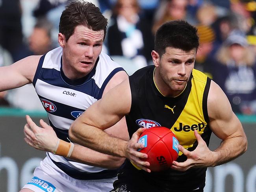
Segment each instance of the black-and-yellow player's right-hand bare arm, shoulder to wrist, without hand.
[{"label": "black-and-yellow player's right-hand bare arm, shoulder to wrist, without hand", "polygon": [[212,166],[235,159],[247,150],[247,138],[241,122],[231,109],[223,90],[213,81],[208,96],[208,114],[213,133],[222,142],[214,152]]}]

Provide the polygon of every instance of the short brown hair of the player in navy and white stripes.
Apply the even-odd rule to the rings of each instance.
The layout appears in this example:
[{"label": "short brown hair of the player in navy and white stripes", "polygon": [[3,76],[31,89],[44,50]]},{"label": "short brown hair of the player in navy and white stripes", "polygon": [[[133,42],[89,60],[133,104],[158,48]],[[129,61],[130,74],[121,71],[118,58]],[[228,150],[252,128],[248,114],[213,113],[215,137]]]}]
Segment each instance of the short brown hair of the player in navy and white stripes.
[{"label": "short brown hair of the player in navy and white stripes", "polygon": [[74,33],[78,25],[87,26],[93,31],[104,30],[106,36],[108,19],[105,18],[100,9],[89,2],[72,1],[62,12],[59,21],[59,33],[65,35],[65,40]]}]

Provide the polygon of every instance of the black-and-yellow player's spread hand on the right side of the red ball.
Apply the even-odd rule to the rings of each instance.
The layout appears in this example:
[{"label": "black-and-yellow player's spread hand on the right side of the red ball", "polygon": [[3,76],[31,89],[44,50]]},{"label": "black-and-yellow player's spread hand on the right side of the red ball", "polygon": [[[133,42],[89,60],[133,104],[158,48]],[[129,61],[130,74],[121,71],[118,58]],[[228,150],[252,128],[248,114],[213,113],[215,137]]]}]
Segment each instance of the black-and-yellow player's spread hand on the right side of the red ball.
[{"label": "black-and-yellow player's spread hand on the right side of the red ball", "polygon": [[183,146],[178,145],[178,149],[187,156],[184,162],[173,161],[171,168],[178,171],[186,171],[192,167],[208,167],[214,162],[214,151],[211,151],[206,142],[195,130],[195,137],[197,138],[198,146],[194,151],[188,151]]}]

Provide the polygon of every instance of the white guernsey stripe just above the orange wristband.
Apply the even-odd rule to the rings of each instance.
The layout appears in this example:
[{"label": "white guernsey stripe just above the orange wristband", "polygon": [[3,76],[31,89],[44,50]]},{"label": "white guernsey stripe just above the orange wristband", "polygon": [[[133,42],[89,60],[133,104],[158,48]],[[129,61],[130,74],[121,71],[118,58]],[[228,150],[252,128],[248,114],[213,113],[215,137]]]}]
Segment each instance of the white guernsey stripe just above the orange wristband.
[{"label": "white guernsey stripe just above the orange wristband", "polygon": [[48,113],[48,118],[53,126],[58,129],[69,130],[73,120]]}]

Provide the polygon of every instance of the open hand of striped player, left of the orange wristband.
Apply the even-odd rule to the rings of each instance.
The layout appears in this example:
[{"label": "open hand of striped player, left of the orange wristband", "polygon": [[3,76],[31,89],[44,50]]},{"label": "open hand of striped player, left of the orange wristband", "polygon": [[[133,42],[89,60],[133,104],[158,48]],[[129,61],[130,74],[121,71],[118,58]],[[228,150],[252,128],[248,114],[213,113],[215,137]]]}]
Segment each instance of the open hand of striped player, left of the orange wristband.
[{"label": "open hand of striped player, left of the orange wristband", "polygon": [[54,151],[58,142],[58,137],[51,126],[42,119],[37,126],[30,116],[26,115],[27,124],[24,126],[25,142],[33,148],[41,151]]}]

